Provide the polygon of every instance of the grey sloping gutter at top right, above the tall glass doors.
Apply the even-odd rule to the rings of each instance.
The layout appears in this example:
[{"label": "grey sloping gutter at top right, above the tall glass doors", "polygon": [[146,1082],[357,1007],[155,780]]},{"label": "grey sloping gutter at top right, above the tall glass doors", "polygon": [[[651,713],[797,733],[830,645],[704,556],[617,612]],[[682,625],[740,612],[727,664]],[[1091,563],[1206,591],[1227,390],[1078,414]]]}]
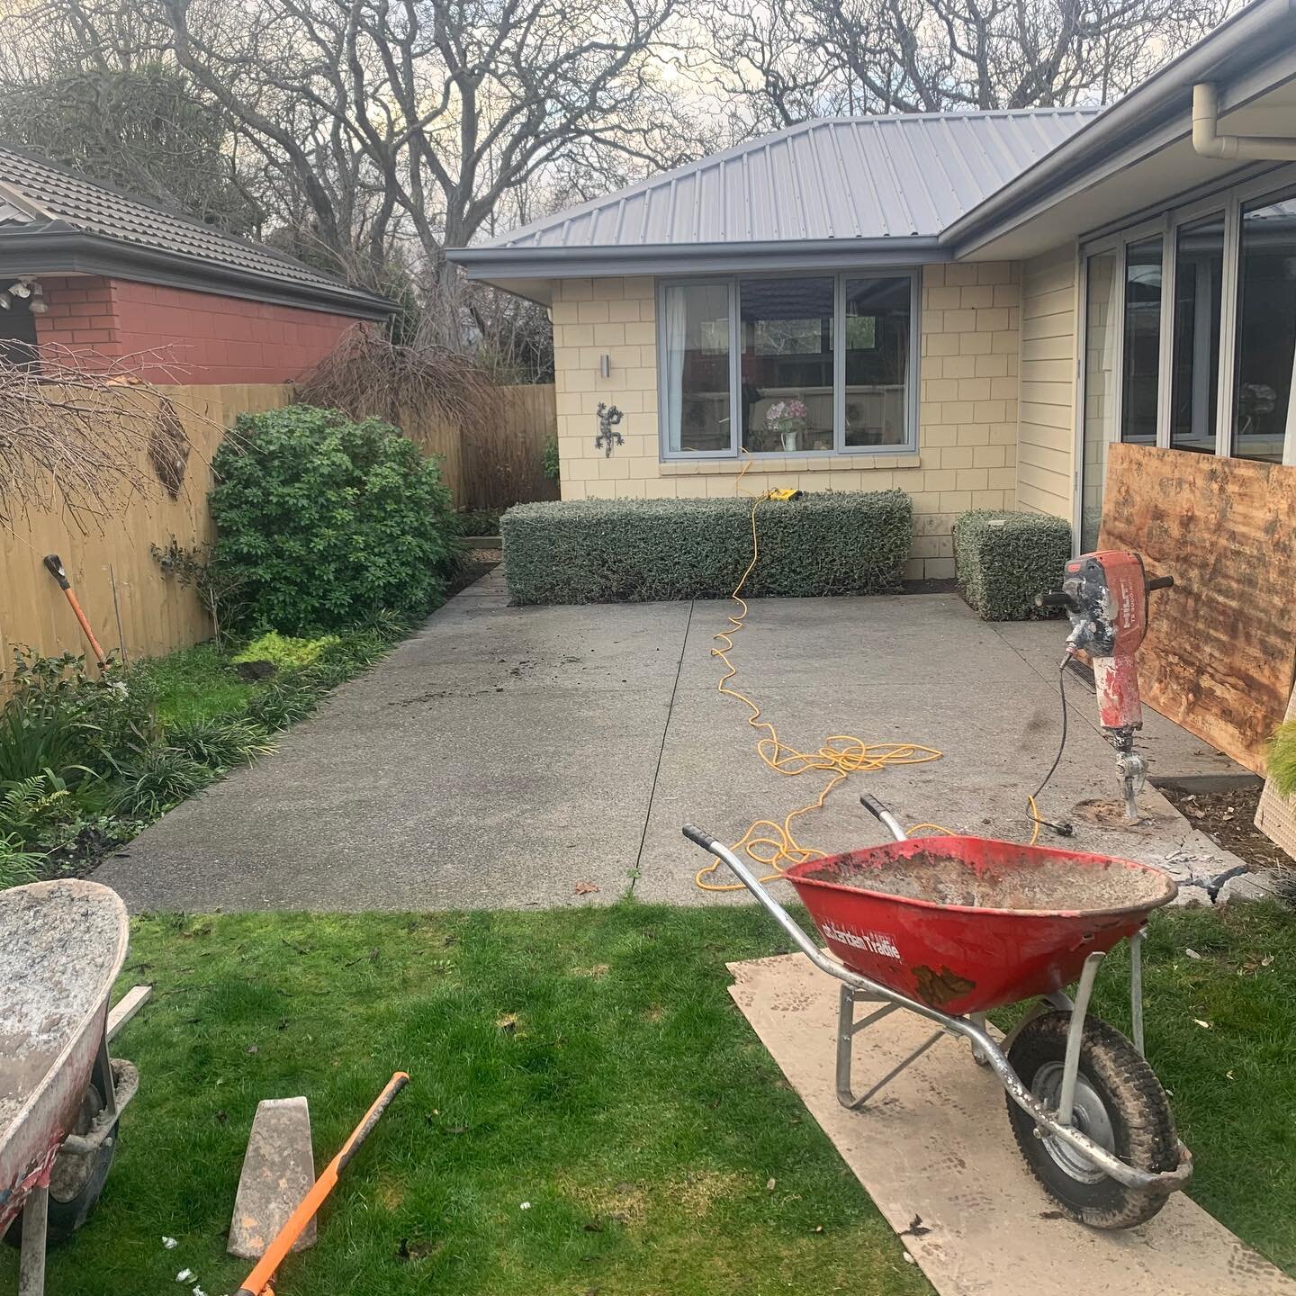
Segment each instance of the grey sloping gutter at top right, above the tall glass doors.
[{"label": "grey sloping gutter at top right, above the tall glass doors", "polygon": [[[940,235],[941,245],[960,255],[977,242],[998,236],[1003,232],[1001,227],[1010,224],[1029,202],[1095,170],[1095,163],[1109,161],[1120,148],[1148,136],[1168,118],[1175,119],[1175,136],[1190,135],[1191,119],[1186,109],[1192,84],[1220,79],[1221,65],[1229,60],[1249,56],[1255,61],[1265,52],[1283,52],[1291,43],[1284,47],[1278,34],[1293,18],[1296,0],[1253,0],[1010,184],[955,220]],[[1182,122],[1177,121],[1179,117]]]}]

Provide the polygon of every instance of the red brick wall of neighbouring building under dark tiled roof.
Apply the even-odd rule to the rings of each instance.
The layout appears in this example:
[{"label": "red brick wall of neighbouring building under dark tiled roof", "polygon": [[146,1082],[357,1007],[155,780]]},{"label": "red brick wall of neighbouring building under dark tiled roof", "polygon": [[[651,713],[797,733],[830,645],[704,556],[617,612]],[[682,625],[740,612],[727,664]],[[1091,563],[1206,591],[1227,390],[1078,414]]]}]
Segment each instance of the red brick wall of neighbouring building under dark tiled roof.
[{"label": "red brick wall of neighbouring building under dark tiled roof", "polygon": [[286,382],[327,355],[355,320],[346,315],[272,306],[97,276],[40,279],[49,310],[36,336],[106,358],[170,354],[170,367],[146,363],[153,382]]}]

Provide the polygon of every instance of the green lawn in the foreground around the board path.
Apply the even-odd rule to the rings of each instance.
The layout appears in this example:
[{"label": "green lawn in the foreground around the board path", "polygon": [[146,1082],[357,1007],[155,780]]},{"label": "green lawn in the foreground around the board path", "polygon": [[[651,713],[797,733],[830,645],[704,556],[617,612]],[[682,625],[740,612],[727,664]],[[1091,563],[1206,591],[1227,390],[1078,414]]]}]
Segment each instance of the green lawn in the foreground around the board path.
[{"label": "green lawn in the foreground around the board path", "polygon": [[[929,1292],[726,993],[778,949],[749,907],[140,919],[123,985],[154,999],[117,1050],[143,1087],[51,1296],[233,1291],[257,1100],[307,1094],[323,1164],[398,1068],[281,1296]],[[1296,1273],[1296,921],[1160,918],[1147,981],[1194,1195]]]}]

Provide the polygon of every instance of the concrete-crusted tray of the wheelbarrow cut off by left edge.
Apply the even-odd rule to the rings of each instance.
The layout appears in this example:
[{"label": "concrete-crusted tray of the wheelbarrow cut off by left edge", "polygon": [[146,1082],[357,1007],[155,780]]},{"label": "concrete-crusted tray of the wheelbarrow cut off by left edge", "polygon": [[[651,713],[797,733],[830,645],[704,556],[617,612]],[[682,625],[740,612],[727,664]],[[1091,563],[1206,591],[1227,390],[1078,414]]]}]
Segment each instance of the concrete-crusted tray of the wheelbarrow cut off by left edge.
[{"label": "concrete-crusted tray of the wheelbarrow cut off by left edge", "polygon": [[0,892],[0,1235],[76,1124],[128,936],[98,883]]}]

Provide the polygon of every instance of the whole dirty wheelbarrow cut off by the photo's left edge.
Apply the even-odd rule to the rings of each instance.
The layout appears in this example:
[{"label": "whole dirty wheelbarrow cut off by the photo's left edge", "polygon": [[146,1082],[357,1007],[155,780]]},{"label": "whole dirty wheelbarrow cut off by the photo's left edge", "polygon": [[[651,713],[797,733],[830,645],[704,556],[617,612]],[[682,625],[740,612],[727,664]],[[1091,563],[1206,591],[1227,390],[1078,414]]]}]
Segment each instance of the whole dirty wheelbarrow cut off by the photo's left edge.
[{"label": "whole dirty wheelbarrow cut off by the photo's left edge", "polygon": [[22,1247],[19,1296],[44,1290],[47,1236],[93,1209],[139,1089],[135,1067],[108,1056],[127,936],[126,906],[98,883],[0,892],[0,1235]]}]

